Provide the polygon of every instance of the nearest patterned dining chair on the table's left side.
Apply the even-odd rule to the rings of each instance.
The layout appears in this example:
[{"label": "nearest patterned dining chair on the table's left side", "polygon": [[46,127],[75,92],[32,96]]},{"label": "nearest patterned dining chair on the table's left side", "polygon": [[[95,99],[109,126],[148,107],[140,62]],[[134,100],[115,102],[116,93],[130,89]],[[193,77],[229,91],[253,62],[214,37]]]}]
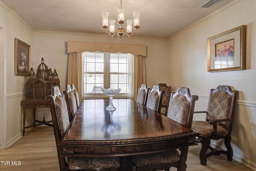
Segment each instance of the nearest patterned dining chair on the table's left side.
[{"label": "nearest patterned dining chair on the table's left side", "polygon": [[118,157],[62,157],[62,149],[58,146],[70,122],[68,117],[68,107],[63,97],[63,93],[58,86],[52,87],[52,95],[46,96],[46,101],[50,102],[52,113],[52,123],[56,141],[59,166],[61,171],[118,171],[120,161]]}]

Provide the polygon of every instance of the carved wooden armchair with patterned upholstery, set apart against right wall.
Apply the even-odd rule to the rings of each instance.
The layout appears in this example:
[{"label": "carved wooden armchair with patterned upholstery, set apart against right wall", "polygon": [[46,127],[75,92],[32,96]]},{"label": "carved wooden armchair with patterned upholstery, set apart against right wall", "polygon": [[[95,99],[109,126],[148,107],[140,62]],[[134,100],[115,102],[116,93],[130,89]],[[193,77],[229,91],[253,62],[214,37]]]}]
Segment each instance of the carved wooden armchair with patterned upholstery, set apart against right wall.
[{"label": "carved wooden armchair with patterned upholstery, set apart against right wall", "polygon": [[[233,149],[231,147],[231,131],[234,121],[234,108],[238,91],[232,91],[228,85],[218,85],[210,90],[207,111],[195,111],[194,113],[206,113],[205,121],[193,121],[192,129],[201,135],[198,142],[202,144],[200,150],[200,163],[206,165],[207,157],[226,154],[228,160],[232,160]],[[211,140],[224,139],[226,151],[214,149]],[[210,152],[207,153],[207,150]]]}]

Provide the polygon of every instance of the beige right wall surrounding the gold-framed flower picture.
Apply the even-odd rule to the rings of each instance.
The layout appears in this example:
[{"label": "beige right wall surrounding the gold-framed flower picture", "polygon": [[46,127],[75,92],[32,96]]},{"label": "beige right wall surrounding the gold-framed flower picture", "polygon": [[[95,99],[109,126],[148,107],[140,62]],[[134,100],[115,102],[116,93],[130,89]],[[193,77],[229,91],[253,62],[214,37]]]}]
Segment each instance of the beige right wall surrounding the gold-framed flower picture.
[{"label": "beige right wall surrounding the gold-framed flower picture", "polygon": [[[209,92],[218,85],[239,91],[232,131],[234,158],[256,169],[256,1],[241,0],[168,40],[167,83],[199,95],[195,110],[206,110]],[[207,72],[207,38],[247,25],[246,70]],[[205,116],[194,116],[205,119]],[[223,142],[216,143],[223,147]]]}]

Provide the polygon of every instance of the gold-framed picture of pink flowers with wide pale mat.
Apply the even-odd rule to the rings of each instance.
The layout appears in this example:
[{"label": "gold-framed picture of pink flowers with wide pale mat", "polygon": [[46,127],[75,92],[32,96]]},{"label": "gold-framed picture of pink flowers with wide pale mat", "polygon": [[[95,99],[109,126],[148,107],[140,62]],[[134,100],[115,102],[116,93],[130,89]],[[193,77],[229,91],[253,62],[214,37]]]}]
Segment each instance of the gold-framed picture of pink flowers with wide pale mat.
[{"label": "gold-framed picture of pink flowers with wide pale mat", "polygon": [[208,72],[245,70],[246,25],[207,39]]}]

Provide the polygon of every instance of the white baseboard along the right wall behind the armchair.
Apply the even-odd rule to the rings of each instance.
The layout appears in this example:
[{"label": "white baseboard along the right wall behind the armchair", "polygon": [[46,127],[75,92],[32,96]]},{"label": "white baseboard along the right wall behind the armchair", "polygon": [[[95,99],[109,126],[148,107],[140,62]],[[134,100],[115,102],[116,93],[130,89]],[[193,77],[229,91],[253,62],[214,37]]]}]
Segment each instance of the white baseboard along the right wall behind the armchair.
[{"label": "white baseboard along the right wall behind the armchair", "polygon": [[[233,137],[232,137],[233,139]],[[216,149],[220,149],[220,150],[223,150],[223,151],[226,151],[227,149],[223,148],[222,146],[216,144],[216,143],[213,143],[211,142],[211,146],[216,148]],[[246,165],[247,167],[249,167],[250,169],[256,171],[256,163],[253,163],[251,161],[249,161],[248,159],[245,159],[244,157],[234,153],[233,155],[233,159],[238,161],[239,163],[242,163],[243,165]]]}]

